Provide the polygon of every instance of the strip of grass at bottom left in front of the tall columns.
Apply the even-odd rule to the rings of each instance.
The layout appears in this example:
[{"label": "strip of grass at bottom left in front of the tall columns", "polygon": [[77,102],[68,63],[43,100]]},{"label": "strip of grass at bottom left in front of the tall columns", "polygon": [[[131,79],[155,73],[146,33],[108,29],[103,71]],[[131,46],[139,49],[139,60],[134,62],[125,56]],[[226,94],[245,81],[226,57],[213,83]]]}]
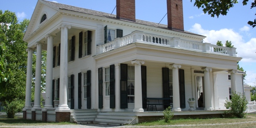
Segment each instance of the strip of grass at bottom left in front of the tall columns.
[{"label": "strip of grass at bottom left in front of the tall columns", "polygon": [[16,126],[16,125],[76,125],[70,122],[43,122],[43,121],[34,121],[30,119],[0,119],[0,126]]}]

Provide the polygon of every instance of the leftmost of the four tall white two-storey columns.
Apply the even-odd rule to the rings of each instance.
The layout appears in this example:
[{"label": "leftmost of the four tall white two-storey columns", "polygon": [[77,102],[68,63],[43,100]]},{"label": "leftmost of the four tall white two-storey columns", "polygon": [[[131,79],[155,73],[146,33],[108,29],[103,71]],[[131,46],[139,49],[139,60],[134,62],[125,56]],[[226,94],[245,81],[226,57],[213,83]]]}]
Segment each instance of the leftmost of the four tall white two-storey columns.
[{"label": "leftmost of the four tall white two-storey columns", "polygon": [[26,99],[25,99],[25,111],[31,109],[31,84],[32,84],[32,58],[33,49],[28,48],[28,62],[27,62],[27,76],[26,76]]}]

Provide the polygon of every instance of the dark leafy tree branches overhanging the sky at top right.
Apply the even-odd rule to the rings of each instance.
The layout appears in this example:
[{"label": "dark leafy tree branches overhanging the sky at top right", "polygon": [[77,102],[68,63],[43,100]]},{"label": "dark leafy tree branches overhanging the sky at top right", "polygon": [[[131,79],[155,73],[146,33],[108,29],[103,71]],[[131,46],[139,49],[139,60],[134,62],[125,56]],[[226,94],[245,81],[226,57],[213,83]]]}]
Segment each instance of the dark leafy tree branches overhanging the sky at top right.
[{"label": "dark leafy tree branches overhanging the sky at top right", "polygon": [[[243,5],[247,5],[248,1],[249,0],[243,0]],[[251,1],[250,9],[256,7],[256,0]],[[192,0],[190,0],[190,2],[192,2]],[[202,8],[204,14],[208,12],[208,15],[211,15],[211,17],[215,17],[215,15],[219,17],[219,15],[227,15],[227,11],[236,3],[238,3],[238,0],[195,0],[194,6],[197,6],[198,9]],[[247,23],[254,28],[256,26],[256,19],[248,21]]]}]

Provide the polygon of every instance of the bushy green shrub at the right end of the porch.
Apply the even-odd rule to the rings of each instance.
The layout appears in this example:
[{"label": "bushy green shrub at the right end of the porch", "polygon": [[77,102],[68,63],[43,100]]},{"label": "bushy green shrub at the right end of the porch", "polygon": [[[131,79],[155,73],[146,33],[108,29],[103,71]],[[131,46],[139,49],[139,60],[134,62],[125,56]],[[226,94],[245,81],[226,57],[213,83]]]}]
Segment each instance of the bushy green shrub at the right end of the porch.
[{"label": "bushy green shrub at the right end of the porch", "polygon": [[241,93],[232,92],[232,98],[230,100],[226,100],[225,107],[229,110],[225,111],[225,113],[238,118],[244,118],[247,104],[248,102],[245,99],[245,96]]}]

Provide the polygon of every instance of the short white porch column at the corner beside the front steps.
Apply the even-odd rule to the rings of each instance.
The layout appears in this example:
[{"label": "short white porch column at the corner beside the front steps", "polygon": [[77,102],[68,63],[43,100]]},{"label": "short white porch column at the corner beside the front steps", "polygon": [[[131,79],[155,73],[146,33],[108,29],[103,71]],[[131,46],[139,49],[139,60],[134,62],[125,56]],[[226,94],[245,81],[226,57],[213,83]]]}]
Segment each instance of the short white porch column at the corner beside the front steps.
[{"label": "short white porch column at the corner beside the front steps", "polygon": [[142,85],[141,85],[141,64],[145,61],[134,60],[131,64],[135,65],[135,87],[134,87],[134,112],[143,112],[142,107]]}]

